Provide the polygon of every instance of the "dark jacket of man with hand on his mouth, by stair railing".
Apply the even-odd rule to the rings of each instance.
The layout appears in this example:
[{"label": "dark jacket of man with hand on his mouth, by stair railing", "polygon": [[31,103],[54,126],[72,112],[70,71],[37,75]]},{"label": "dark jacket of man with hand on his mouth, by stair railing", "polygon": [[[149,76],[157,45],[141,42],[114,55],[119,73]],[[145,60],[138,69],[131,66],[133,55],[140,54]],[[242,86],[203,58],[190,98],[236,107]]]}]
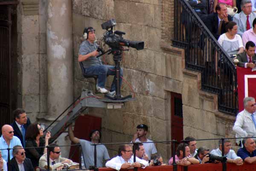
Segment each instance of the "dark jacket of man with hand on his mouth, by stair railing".
[{"label": "dark jacket of man with hand on his mouth, by stair railing", "polygon": [[[229,15],[228,17],[229,21],[232,21],[232,17]],[[225,22],[222,23],[221,25],[221,34],[226,32],[226,24]],[[212,33],[212,35],[216,38],[216,40],[218,41],[218,38],[220,37],[220,35],[218,34],[218,13],[212,13],[207,15],[207,20],[205,25],[207,26],[207,28],[209,29],[209,31]]]}]

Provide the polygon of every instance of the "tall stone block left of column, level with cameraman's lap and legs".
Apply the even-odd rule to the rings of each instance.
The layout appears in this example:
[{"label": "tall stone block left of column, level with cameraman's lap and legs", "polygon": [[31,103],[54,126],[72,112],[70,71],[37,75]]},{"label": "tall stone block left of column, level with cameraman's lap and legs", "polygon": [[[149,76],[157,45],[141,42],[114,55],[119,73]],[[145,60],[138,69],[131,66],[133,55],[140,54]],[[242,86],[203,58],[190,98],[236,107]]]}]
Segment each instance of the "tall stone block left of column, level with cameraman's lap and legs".
[{"label": "tall stone block left of column, level with cameraman's lap and legs", "polygon": [[38,55],[22,56],[22,94],[39,94]]}]

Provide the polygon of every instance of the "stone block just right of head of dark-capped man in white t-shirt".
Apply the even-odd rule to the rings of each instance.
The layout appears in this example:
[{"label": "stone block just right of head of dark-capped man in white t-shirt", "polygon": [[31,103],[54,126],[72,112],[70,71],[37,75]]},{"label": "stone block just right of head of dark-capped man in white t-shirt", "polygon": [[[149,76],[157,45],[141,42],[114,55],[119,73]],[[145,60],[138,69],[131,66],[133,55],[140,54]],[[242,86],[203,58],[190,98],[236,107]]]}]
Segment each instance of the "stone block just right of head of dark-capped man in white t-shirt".
[{"label": "stone block just right of head of dark-capped man in white t-shirt", "polygon": [[151,140],[166,141],[166,122],[157,118],[150,118]]}]

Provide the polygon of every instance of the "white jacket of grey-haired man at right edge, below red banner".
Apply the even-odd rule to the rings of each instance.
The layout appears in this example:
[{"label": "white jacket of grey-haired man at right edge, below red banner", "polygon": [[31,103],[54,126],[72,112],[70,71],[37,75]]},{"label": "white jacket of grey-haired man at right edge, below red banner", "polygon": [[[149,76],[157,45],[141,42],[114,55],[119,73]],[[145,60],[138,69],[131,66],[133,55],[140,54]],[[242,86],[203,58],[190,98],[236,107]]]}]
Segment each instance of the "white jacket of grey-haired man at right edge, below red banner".
[{"label": "white jacket of grey-haired man at right edge, below red banner", "polygon": [[[247,112],[245,109],[238,113],[233,131],[236,132],[236,138],[256,137],[256,128],[251,113]],[[241,139],[236,139],[236,142],[239,143],[240,140]]]}]

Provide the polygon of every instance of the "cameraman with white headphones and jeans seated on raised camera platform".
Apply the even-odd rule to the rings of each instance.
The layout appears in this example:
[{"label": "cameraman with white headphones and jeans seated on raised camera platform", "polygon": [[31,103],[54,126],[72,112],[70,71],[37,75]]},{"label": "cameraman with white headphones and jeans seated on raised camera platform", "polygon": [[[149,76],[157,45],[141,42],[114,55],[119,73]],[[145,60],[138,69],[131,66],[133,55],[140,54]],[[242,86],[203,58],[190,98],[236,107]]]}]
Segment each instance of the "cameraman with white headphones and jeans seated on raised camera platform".
[{"label": "cameraman with white headphones and jeans seated on raised camera platform", "polygon": [[[93,27],[84,28],[84,41],[79,47],[78,61],[82,62],[86,75],[97,75],[98,81],[96,89],[99,93],[108,93],[108,96],[115,96],[116,94],[116,76],[113,78],[110,91],[105,89],[105,83],[108,75],[115,75],[115,67],[110,65],[102,65],[100,58],[96,58],[99,55],[97,51],[98,45],[95,42],[95,29]],[[123,70],[120,70],[120,87],[122,85]]]}]

